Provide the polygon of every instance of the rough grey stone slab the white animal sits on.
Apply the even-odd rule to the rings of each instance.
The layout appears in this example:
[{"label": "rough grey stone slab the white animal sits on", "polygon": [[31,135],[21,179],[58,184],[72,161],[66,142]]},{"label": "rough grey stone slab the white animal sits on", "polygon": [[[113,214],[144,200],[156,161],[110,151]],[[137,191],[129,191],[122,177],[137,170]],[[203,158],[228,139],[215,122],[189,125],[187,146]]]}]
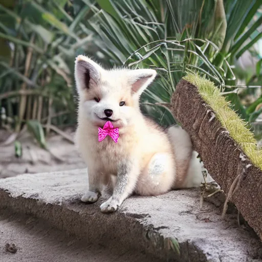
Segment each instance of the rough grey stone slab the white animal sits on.
[{"label": "rough grey stone slab the white animal sits on", "polygon": [[235,216],[223,220],[221,210],[206,202],[200,210],[198,189],[132,197],[118,212],[102,214],[101,201],[80,202],[87,186],[85,169],[1,179],[0,207],[34,215],[86,243],[133,248],[163,261],[262,261],[260,241]]}]

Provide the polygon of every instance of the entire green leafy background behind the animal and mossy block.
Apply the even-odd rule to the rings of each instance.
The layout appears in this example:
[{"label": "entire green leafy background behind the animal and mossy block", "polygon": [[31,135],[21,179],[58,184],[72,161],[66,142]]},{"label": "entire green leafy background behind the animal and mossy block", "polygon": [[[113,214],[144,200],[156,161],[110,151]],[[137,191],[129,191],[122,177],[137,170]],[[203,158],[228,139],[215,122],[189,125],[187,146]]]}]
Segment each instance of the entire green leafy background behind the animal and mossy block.
[{"label": "entire green leafy background behind the animal and mossy block", "polygon": [[[141,108],[162,125],[175,121],[170,96],[188,71],[205,74],[243,119],[256,122],[261,22],[260,0],[0,0],[1,126],[48,134],[74,125],[78,54],[108,67],[155,68]],[[238,63],[247,52],[255,70]]]}]

